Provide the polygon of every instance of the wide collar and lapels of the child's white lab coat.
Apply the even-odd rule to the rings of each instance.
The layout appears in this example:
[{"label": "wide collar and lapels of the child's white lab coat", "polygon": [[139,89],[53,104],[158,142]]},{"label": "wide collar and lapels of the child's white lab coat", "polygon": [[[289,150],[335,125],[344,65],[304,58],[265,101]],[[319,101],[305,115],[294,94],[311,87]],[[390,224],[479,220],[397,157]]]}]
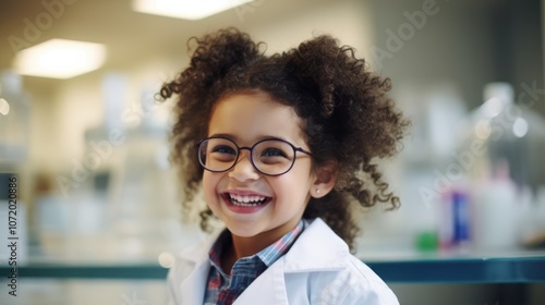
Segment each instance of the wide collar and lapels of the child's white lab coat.
[{"label": "wide collar and lapels of the child's white lab coat", "polygon": [[[206,289],[203,283],[206,282],[210,268],[208,251],[218,235],[219,232],[181,253],[183,259],[194,264],[191,274],[181,284],[186,304],[203,303]],[[346,261],[343,258],[349,255],[347,244],[317,218],[301,233],[290,251],[257,277],[234,304],[253,304],[257,295],[262,305],[288,304],[286,273],[340,270]]]}]

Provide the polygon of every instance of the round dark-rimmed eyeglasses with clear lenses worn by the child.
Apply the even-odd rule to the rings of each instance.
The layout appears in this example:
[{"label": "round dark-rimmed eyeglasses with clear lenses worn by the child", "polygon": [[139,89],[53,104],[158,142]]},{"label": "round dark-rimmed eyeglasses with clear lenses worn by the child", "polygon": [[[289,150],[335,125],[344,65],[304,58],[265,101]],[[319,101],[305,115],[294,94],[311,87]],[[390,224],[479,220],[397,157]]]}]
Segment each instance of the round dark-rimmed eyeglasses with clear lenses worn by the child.
[{"label": "round dark-rimmed eyeglasses with clear lenses worn by the child", "polygon": [[207,171],[225,172],[237,164],[240,151],[250,151],[254,168],[266,175],[281,175],[291,170],[298,151],[312,156],[307,150],[295,147],[283,139],[262,139],[252,147],[239,147],[237,143],[223,137],[209,137],[201,141],[198,162]]}]

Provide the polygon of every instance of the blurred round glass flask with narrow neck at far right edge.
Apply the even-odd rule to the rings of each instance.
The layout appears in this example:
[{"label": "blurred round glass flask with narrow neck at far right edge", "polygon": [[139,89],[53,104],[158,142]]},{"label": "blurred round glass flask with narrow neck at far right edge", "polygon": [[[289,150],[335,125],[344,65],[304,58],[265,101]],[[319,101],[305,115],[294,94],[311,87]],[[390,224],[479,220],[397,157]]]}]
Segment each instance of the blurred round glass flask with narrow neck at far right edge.
[{"label": "blurred round glass flask with narrow neck at far right edge", "polygon": [[479,180],[507,161],[510,179],[535,192],[545,183],[540,152],[545,149],[545,121],[530,107],[514,102],[508,83],[487,84],[483,96],[484,103],[470,113],[458,139],[467,159],[472,159],[465,170]]}]

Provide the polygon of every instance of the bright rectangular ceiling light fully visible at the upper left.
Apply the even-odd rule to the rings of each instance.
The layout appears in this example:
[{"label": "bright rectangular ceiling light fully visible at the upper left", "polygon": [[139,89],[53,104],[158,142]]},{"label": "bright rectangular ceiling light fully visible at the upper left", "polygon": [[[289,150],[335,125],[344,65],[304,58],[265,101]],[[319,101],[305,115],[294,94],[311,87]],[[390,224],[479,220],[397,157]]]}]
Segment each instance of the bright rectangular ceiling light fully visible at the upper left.
[{"label": "bright rectangular ceiling light fully visible at the upper left", "polygon": [[106,59],[100,44],[51,39],[15,56],[15,72],[51,78],[70,78],[99,69]]}]

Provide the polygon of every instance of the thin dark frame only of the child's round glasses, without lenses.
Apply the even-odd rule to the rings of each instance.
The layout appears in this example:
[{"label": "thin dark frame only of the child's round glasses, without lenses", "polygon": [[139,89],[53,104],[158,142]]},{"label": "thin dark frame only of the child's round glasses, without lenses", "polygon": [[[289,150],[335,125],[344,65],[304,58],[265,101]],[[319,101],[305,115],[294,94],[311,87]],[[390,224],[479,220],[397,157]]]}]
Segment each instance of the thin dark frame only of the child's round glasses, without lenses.
[{"label": "thin dark frame only of the child's round glasses, without lenses", "polygon": [[[204,164],[204,161],[203,159],[201,158],[201,146],[204,142],[206,141],[209,141],[209,139],[214,139],[214,138],[220,138],[220,139],[226,139],[232,144],[234,144],[234,147],[237,147],[237,158],[234,159],[232,166],[230,166],[229,168],[225,169],[225,170],[210,170],[208,168],[206,168],[206,166]],[[269,173],[265,173],[263,171],[261,171],[256,166],[255,166],[255,161],[254,161],[254,148],[255,146],[264,143],[264,142],[270,142],[270,141],[277,141],[277,142],[283,142],[286,144],[288,144],[289,146],[291,146],[291,148],[293,148],[293,161],[291,162],[291,166],[284,171],[284,172],[281,172],[281,173],[276,173],[276,174],[269,174]],[[250,146],[239,146],[234,141],[230,139],[230,138],[227,138],[227,137],[222,137],[222,136],[211,136],[211,137],[207,137],[207,138],[203,138],[201,139],[197,144],[196,144],[196,148],[197,148],[197,158],[198,158],[198,163],[203,167],[203,169],[209,171],[209,172],[226,172],[226,171],[229,171],[231,170],[232,168],[234,168],[234,166],[239,162],[239,158],[240,158],[240,152],[241,150],[245,149],[245,150],[249,150],[250,151],[250,161],[252,162],[252,166],[254,167],[254,169],[256,171],[258,171],[259,173],[264,174],[264,175],[268,175],[268,176],[278,176],[278,175],[282,175],[287,172],[289,172],[292,168],[293,168],[293,164],[295,164],[295,159],[296,159],[296,152],[300,151],[300,152],[303,152],[305,155],[308,155],[312,157],[312,152],[308,151],[308,150],[305,150],[303,149],[302,147],[295,147],[295,145],[289,143],[288,141],[284,141],[284,139],[281,139],[281,138],[265,138],[265,139],[261,139],[256,143],[254,143],[254,145],[252,145],[252,147]]]}]

